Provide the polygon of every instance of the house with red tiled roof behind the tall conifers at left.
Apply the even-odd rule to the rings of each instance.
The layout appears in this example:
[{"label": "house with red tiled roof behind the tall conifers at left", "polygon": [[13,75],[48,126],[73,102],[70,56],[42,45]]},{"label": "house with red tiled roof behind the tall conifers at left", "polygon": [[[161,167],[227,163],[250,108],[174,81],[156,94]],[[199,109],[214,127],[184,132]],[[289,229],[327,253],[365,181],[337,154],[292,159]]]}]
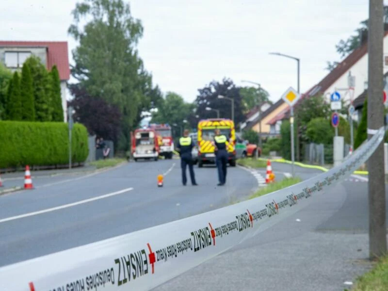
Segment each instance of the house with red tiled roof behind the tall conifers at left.
[{"label": "house with red tiled roof behind the tall conifers at left", "polygon": [[0,62],[12,71],[19,70],[31,55],[39,57],[51,70],[56,65],[61,79],[62,108],[66,120],[66,88],[70,79],[67,42],[65,41],[0,41]]}]

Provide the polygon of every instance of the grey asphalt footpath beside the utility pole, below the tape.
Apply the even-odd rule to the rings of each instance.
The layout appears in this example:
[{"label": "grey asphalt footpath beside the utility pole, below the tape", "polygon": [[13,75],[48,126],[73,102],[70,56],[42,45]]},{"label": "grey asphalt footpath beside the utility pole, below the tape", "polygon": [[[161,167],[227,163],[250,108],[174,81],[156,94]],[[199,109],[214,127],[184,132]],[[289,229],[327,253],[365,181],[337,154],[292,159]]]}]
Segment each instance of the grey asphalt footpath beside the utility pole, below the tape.
[{"label": "grey asphalt footpath beside the utility pole, below the tape", "polygon": [[[273,168],[279,173],[291,166]],[[295,170],[305,179],[320,173]],[[368,183],[351,177],[308,208],[154,290],[343,291],[371,268],[368,256]]]}]

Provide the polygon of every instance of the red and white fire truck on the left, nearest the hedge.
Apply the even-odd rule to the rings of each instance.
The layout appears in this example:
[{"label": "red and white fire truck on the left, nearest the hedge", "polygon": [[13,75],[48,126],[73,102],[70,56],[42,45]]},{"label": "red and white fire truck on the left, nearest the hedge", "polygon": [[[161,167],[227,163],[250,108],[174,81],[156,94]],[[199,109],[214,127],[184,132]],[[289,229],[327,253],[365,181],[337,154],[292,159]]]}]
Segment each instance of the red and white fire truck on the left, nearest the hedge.
[{"label": "red and white fire truck on the left, nearest the hedge", "polygon": [[136,129],[134,132],[131,132],[131,141],[131,152],[135,162],[138,159],[158,161],[160,147],[158,135],[154,129]]}]

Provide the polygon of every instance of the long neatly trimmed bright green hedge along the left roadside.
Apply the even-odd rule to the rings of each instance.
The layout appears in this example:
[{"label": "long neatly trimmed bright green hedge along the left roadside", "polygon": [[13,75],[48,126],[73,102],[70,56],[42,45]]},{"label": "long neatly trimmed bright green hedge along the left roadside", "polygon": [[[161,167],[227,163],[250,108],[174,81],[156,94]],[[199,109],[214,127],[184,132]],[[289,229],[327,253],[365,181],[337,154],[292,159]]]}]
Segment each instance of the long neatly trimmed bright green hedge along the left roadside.
[{"label": "long neatly trimmed bright green hedge along the left roadside", "polygon": [[[0,141],[0,168],[68,163],[66,123],[0,121]],[[84,162],[88,152],[87,130],[74,124],[72,162]]]}]

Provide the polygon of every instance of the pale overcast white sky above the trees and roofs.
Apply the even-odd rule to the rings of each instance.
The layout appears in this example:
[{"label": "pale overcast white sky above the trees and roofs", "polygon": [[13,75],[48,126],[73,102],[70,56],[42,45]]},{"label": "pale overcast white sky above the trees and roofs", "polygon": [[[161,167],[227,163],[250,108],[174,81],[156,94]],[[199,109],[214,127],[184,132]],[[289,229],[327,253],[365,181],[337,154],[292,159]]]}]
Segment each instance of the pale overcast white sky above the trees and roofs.
[{"label": "pale overcast white sky above the trees and roofs", "polygon": [[[2,0],[2,40],[67,40],[76,0]],[[301,59],[301,92],[320,81],[326,61],[338,61],[335,45],[368,18],[368,0],[131,0],[142,20],[138,46],[146,69],[162,91],[193,101],[212,80],[256,81],[276,101],[296,89]],[[72,62],[72,61],[71,61]]]}]

